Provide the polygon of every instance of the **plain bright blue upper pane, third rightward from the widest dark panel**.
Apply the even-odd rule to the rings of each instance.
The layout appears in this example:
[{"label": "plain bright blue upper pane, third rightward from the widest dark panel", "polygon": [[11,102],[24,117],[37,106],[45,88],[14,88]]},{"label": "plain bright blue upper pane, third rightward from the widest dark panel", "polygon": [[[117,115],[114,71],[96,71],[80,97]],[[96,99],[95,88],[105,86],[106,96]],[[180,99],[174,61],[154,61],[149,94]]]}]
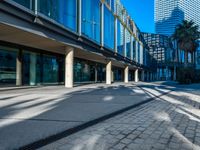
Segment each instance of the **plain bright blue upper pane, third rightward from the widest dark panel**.
[{"label": "plain bright blue upper pane, third rightward from the widest dark panel", "polygon": [[104,45],[114,50],[114,16],[106,6],[104,9]]}]

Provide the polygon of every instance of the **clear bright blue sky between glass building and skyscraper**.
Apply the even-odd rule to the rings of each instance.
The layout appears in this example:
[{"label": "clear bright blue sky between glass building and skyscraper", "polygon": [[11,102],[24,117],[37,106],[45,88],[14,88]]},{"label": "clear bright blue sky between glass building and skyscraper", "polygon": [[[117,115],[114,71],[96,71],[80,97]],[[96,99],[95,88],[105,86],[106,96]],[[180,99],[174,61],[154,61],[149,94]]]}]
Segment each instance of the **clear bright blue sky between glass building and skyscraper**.
[{"label": "clear bright blue sky between glass building and skyscraper", "polygon": [[154,33],[154,0],[121,0],[142,32]]}]

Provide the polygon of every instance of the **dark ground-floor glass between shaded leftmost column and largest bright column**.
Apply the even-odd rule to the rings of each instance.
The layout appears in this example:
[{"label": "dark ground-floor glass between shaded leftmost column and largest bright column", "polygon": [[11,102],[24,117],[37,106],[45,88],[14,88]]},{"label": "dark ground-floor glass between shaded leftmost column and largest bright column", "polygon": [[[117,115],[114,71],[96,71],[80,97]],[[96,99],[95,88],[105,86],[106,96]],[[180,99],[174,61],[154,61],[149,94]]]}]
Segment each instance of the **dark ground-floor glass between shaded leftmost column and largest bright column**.
[{"label": "dark ground-floor glass between shaded leftmost column and largest bright column", "polygon": [[23,84],[64,83],[64,58],[35,52],[23,52]]}]

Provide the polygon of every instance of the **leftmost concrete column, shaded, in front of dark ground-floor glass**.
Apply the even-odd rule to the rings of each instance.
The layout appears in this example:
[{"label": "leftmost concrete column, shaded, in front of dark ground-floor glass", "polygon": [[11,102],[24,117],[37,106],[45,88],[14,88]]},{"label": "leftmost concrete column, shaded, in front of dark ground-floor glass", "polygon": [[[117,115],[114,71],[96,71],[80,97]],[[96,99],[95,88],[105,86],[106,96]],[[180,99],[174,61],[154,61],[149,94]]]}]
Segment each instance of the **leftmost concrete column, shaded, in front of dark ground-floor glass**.
[{"label": "leftmost concrete column, shaded, in front of dark ground-floor glass", "polygon": [[16,59],[16,85],[22,85],[22,50],[19,50]]}]

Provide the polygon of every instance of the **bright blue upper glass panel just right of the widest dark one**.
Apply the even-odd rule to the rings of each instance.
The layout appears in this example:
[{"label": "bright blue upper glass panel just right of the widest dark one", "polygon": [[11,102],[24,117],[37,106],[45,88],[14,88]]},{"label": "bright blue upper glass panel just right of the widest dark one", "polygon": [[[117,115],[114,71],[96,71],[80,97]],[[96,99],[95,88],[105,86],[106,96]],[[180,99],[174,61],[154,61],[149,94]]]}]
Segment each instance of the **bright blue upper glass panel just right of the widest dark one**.
[{"label": "bright blue upper glass panel just right of the widest dark one", "polygon": [[100,1],[82,0],[82,33],[100,43]]}]

